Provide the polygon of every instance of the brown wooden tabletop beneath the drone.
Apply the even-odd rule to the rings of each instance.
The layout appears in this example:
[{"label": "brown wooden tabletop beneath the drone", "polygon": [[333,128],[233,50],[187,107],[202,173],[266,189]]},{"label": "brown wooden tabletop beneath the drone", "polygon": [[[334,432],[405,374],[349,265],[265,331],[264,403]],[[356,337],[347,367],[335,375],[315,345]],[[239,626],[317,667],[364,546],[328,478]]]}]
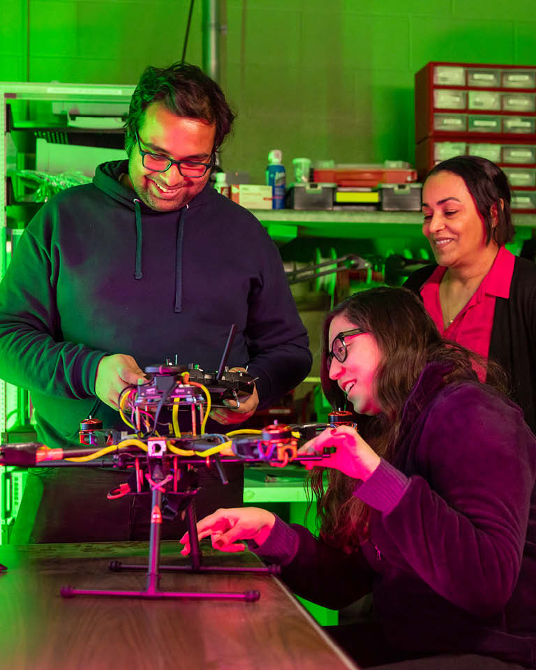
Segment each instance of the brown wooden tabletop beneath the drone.
[{"label": "brown wooden tabletop beneath the drone", "polygon": [[[258,602],[77,596],[62,586],[144,590],[147,543],[0,546],[0,668],[6,670],[356,669],[270,574],[163,572],[165,591],[260,591]],[[161,564],[184,563],[163,542]],[[258,565],[251,553],[205,565]]]}]

